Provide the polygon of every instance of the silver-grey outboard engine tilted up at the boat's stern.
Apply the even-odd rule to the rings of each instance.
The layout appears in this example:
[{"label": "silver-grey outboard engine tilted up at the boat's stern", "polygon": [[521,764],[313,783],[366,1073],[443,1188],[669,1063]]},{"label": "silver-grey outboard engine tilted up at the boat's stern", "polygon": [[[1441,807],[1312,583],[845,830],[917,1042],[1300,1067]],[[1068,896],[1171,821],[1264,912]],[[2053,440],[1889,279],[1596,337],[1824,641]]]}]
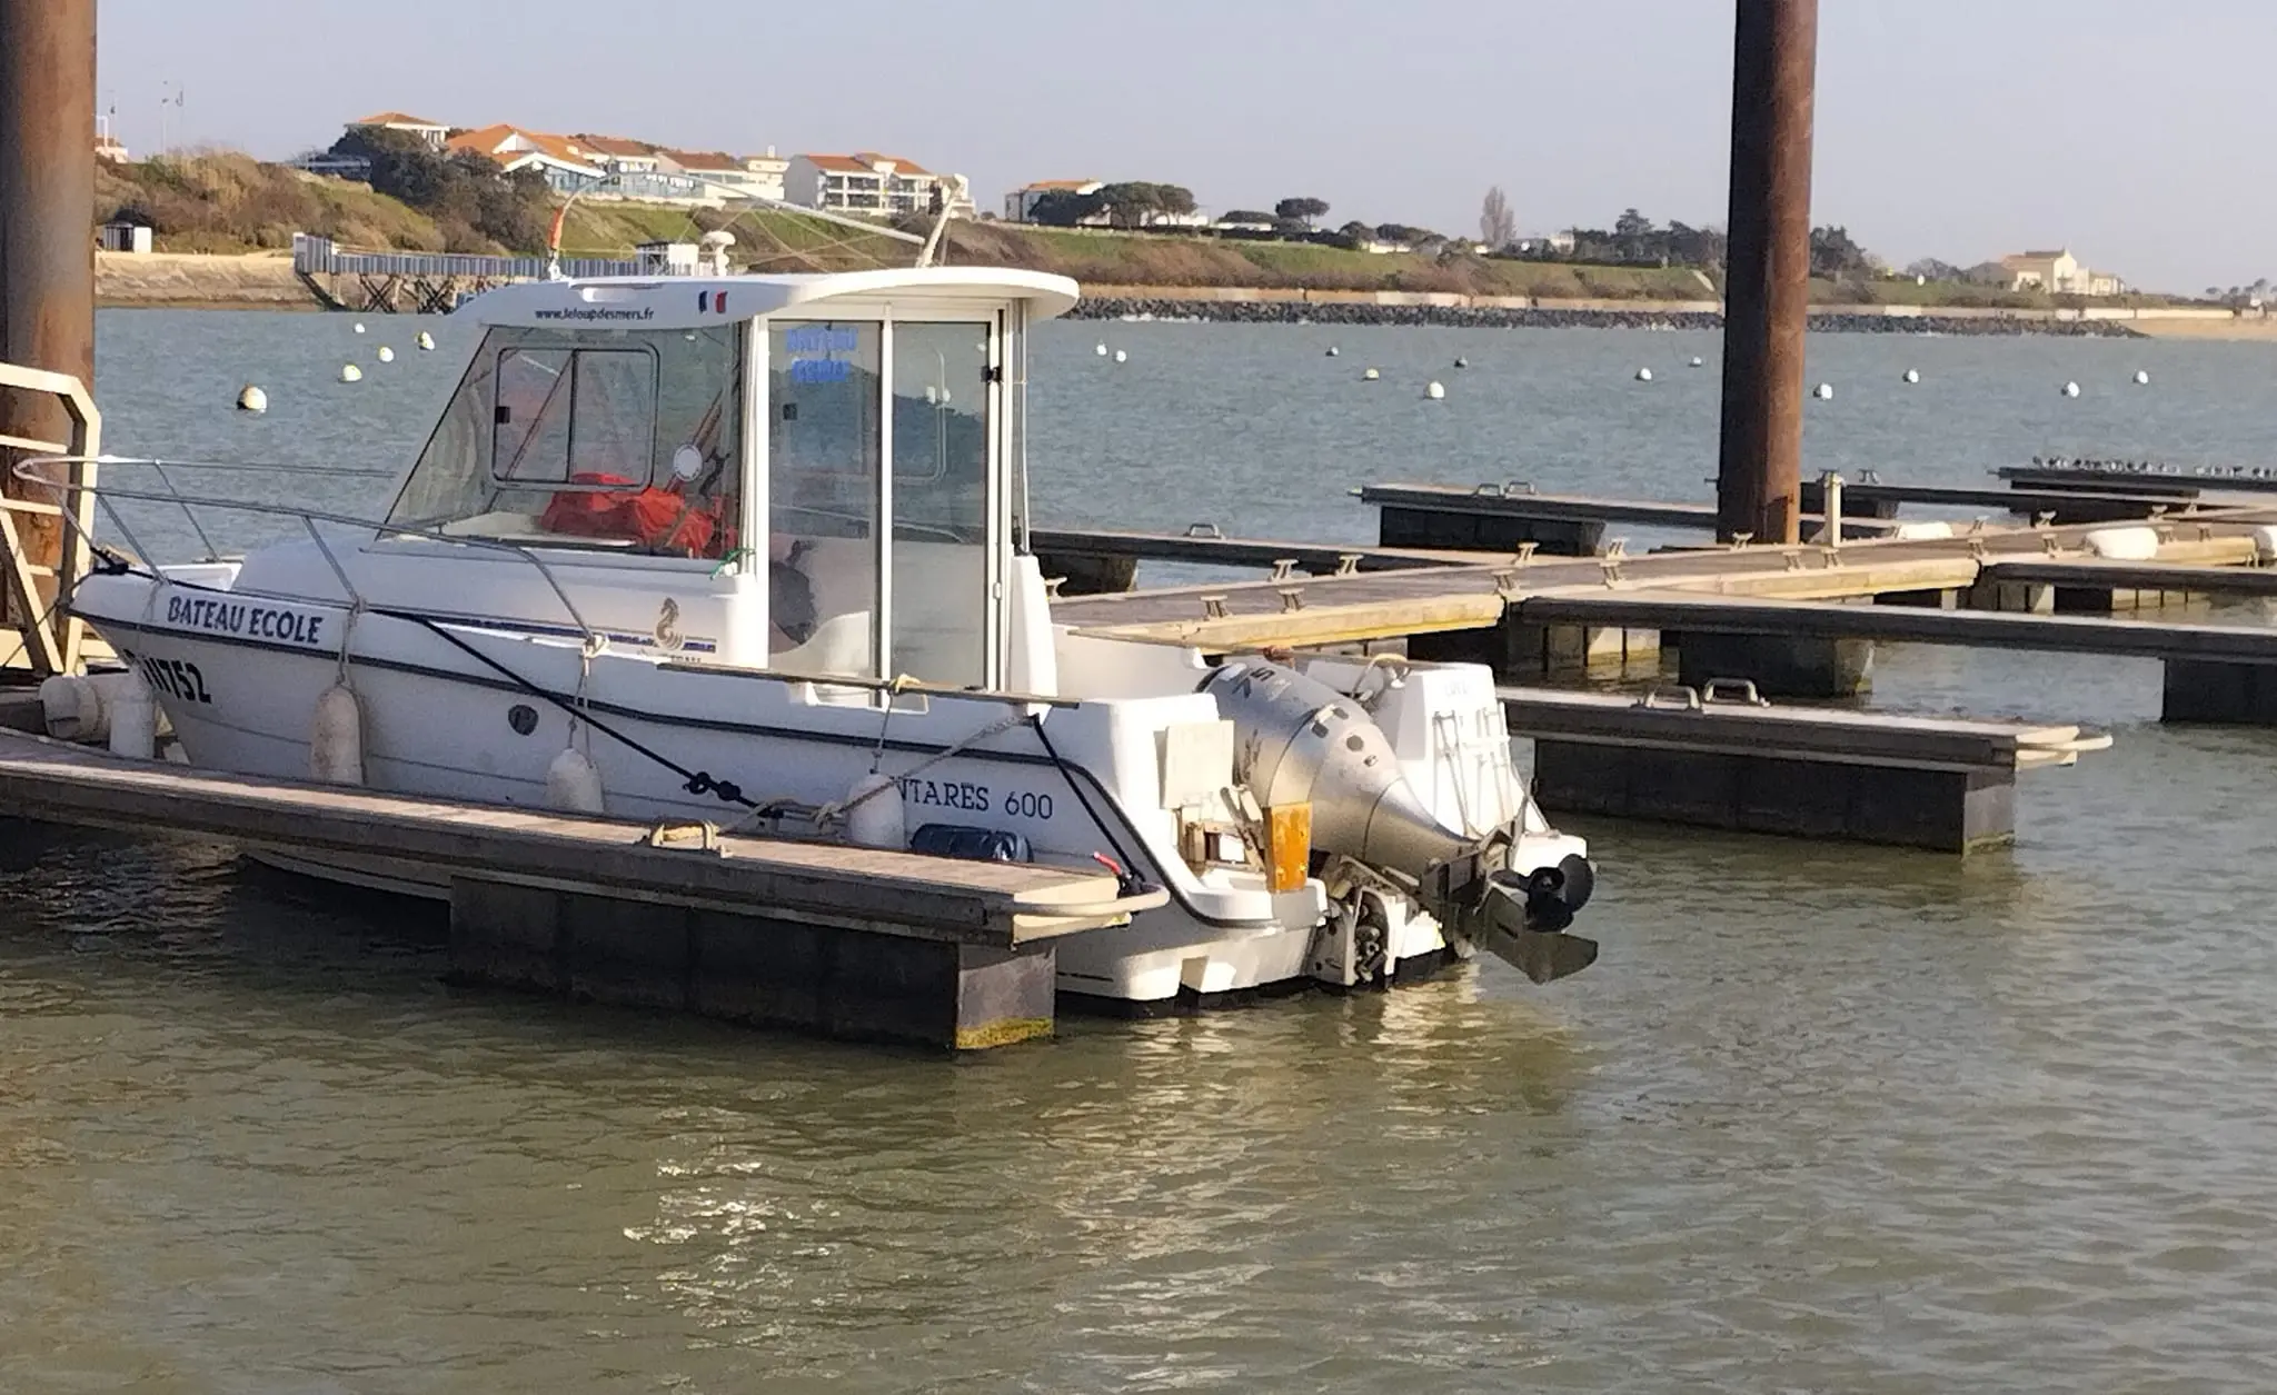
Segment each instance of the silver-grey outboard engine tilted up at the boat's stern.
[{"label": "silver-grey outboard engine tilted up at the boat's stern", "polygon": [[1507,872],[1512,831],[1469,837],[1439,822],[1357,701],[1257,658],[1227,662],[1202,692],[1234,724],[1234,776],[1257,803],[1312,806],[1316,853],[1398,874],[1450,940],[1494,951],[1535,983],[1596,960],[1594,940],[1564,933],[1589,897],[1589,865]]}]

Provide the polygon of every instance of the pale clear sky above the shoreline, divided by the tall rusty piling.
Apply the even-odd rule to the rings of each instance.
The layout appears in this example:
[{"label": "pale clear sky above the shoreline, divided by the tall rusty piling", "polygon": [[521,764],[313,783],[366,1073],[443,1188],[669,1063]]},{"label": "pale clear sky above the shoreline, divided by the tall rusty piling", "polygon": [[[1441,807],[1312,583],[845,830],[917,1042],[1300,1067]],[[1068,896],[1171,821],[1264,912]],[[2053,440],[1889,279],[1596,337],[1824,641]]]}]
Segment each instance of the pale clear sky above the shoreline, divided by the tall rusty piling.
[{"label": "pale clear sky above the shoreline, divided by the tall rusty piling", "polygon": [[[100,100],[282,157],[405,109],[690,148],[1164,180],[1202,207],[1528,232],[1724,221],[1728,0],[100,0]],[[2277,278],[2277,0],[1824,0],[1812,216],[1906,264],[2070,246]]]}]

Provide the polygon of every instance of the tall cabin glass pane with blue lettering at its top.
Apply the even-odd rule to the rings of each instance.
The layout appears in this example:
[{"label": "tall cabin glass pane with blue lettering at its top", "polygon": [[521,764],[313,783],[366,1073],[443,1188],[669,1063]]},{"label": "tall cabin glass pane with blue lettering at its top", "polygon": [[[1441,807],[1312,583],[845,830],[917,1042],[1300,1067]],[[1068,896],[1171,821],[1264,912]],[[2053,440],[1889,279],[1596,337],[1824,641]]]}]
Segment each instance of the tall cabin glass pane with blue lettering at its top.
[{"label": "tall cabin glass pane with blue lettering at its top", "polygon": [[767,599],[779,669],[879,676],[877,321],[767,325]]}]

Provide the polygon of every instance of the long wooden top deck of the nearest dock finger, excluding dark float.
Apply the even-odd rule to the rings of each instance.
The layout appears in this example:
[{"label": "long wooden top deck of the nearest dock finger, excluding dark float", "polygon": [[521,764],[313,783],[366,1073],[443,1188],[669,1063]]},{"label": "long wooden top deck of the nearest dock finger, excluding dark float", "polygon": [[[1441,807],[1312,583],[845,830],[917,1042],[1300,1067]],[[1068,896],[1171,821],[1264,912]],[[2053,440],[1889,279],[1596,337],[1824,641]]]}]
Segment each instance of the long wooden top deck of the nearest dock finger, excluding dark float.
[{"label": "long wooden top deck of the nearest dock finger, excluding dark float", "polygon": [[647,824],[373,794],[118,760],[0,733],[0,812],[196,833],[301,856],[360,853],[902,938],[1016,947],[1123,924],[1111,876],[765,837],[656,849]]}]

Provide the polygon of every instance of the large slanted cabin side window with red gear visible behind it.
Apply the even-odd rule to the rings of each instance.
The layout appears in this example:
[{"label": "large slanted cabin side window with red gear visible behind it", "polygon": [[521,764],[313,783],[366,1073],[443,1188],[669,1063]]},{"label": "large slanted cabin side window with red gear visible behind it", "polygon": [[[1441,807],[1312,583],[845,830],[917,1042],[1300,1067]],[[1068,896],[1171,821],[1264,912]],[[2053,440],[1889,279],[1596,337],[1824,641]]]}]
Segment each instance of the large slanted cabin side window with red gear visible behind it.
[{"label": "large slanted cabin side window with red gear visible behind it", "polygon": [[387,521],[717,560],[740,467],[740,325],[492,330]]}]

